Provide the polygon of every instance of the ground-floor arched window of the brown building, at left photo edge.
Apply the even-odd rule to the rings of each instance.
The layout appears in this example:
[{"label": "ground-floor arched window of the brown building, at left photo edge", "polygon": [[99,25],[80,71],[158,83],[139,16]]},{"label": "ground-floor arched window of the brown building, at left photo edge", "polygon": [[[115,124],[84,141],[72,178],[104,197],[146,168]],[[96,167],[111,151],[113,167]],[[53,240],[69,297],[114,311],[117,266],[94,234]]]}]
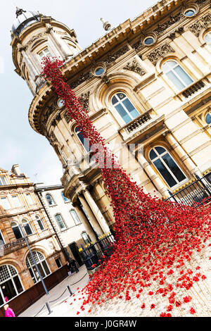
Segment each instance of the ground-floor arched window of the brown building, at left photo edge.
[{"label": "ground-floor arched window of the brown building, at left photo edge", "polygon": [[8,264],[0,266],[0,306],[23,292],[18,271]]}]

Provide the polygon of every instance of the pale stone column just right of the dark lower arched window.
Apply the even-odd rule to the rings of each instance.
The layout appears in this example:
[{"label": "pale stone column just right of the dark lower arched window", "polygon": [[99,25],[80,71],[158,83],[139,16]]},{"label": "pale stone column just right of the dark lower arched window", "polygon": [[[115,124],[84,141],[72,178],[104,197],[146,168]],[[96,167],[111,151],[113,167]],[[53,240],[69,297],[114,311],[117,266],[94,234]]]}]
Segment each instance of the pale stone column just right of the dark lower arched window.
[{"label": "pale stone column just right of the dark lower arched window", "polygon": [[179,142],[172,136],[170,132],[167,132],[164,134],[165,138],[167,139],[167,142],[172,146],[172,149],[177,153],[181,161],[184,162],[184,165],[186,165],[186,168],[190,171],[192,175],[196,173],[197,175],[200,175],[200,171],[198,170],[198,167],[195,163],[191,160],[190,156],[186,154],[186,151],[181,147]]}]

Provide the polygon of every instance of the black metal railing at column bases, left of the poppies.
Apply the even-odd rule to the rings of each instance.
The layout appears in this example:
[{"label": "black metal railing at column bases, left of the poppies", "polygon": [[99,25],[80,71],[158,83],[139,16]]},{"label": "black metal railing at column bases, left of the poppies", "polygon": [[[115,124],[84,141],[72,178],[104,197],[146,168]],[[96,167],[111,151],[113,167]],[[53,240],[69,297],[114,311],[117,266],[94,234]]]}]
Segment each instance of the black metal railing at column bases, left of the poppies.
[{"label": "black metal railing at column bases, left of the poppies", "polygon": [[96,242],[90,242],[79,249],[79,254],[87,270],[94,270],[103,263],[105,258],[111,256],[115,239],[113,235],[102,235]]}]

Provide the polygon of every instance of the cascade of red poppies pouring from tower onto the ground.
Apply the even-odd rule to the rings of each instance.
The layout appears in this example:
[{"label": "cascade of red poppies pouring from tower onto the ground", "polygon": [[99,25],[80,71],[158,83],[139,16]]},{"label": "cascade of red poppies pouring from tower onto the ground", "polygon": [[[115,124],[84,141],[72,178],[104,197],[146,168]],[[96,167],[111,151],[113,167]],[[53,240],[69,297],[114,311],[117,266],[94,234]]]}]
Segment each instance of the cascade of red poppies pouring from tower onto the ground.
[{"label": "cascade of red poppies pouring from tower onto the ground", "polygon": [[[168,296],[170,306],[167,312],[172,311],[181,305],[174,292],[177,288],[188,290],[193,282],[205,279],[205,275],[194,274],[193,270],[186,268],[186,263],[191,261],[193,251],[200,254],[210,237],[211,208],[181,206],[144,194],[143,188],[132,182],[105,146],[103,137],[63,77],[62,65],[63,61],[56,58],[53,61],[44,58],[43,75],[58,98],[63,100],[71,120],[75,120],[82,135],[89,138],[91,146],[97,144],[93,154],[98,168],[101,168],[115,216],[113,255],[110,259],[105,258],[84,288],[87,299],[84,299],[82,310],[84,304],[100,303],[101,297],[105,296],[120,299],[124,296],[129,300],[134,292],[139,299],[144,287],[157,282],[161,287],[148,294]],[[184,303],[190,301],[190,297],[184,296]],[[170,316],[167,312],[160,316]]]}]

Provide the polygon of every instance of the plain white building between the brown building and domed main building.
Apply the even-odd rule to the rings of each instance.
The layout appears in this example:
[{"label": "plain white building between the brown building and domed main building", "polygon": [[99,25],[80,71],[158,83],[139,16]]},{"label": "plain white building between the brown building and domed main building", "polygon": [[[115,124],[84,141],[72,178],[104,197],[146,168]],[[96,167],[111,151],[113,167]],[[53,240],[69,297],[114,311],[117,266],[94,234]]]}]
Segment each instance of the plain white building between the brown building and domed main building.
[{"label": "plain white building between the brown building and domed main building", "polygon": [[79,248],[81,244],[85,246],[90,242],[82,222],[86,216],[82,211],[76,211],[70,199],[64,196],[63,189],[62,185],[34,185],[34,191],[41,199],[51,224],[65,249],[66,257],[75,258],[78,265],[82,266]]}]

